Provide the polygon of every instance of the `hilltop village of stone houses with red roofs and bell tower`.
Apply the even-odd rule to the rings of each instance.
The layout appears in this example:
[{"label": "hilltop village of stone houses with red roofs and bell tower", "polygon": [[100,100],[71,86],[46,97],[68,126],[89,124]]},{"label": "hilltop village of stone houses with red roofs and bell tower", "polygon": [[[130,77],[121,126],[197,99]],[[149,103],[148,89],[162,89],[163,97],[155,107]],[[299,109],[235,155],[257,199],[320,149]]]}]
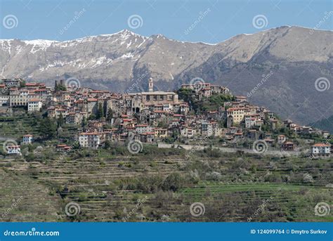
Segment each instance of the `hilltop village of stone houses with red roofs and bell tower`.
[{"label": "hilltop village of stone houses with red roofs and bell tower", "polygon": [[[54,88],[23,79],[0,82],[0,115],[16,109],[44,112],[62,124],[76,124],[81,133],[73,138],[80,148],[98,149],[112,142],[196,143],[218,140],[229,148],[263,148],[285,152],[308,150],[311,157],[330,157],[332,146],[327,131],[280,120],[270,110],[252,105],[244,96],[233,96],[223,86],[195,82],[176,92],[155,91],[152,79],[148,91],[112,93],[81,88],[55,81]],[[303,141],[299,141],[303,140]],[[22,145],[34,142],[23,133]],[[141,144],[142,145],[142,144]],[[72,146],[58,143],[57,150]],[[8,147],[20,154],[20,145]]]}]

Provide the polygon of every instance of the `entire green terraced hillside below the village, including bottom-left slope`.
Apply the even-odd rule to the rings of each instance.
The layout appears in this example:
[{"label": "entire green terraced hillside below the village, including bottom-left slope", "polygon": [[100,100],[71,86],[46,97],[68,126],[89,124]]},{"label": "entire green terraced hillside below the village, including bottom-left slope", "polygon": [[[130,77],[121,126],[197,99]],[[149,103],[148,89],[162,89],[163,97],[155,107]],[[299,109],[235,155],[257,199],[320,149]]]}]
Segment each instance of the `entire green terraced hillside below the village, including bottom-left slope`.
[{"label": "entire green terraced hillside below the village, including bottom-left slope", "polygon": [[[42,141],[35,117],[0,118],[0,136],[37,139],[20,157],[0,156],[1,221],[333,221],[332,211],[315,215],[316,204],[333,204],[332,159],[218,150],[185,158],[185,150],[154,145],[131,155],[124,143],[57,152],[78,126]],[[65,212],[72,202],[74,216]],[[191,214],[196,202],[202,215]]]}]

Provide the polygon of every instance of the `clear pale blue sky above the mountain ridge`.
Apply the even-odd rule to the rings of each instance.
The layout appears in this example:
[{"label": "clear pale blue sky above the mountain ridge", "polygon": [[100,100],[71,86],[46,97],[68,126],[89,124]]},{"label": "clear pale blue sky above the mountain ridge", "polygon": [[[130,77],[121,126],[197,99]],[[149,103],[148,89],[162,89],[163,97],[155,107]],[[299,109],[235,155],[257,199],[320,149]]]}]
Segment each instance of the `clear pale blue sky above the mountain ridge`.
[{"label": "clear pale blue sky above the mountain ridge", "polygon": [[282,25],[333,28],[328,0],[0,0],[0,39],[65,41],[128,29],[215,44]]}]

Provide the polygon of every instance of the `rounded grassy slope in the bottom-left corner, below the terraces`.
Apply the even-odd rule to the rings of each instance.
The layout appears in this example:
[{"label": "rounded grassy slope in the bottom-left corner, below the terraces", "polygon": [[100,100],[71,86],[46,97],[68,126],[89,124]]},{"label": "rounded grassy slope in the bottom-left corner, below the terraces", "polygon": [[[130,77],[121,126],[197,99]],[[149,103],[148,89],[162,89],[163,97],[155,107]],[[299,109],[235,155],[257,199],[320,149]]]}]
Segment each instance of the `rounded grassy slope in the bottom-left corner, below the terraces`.
[{"label": "rounded grassy slope in the bottom-left corner, below the terraces", "polygon": [[1,221],[58,221],[60,198],[36,180],[0,169]]}]

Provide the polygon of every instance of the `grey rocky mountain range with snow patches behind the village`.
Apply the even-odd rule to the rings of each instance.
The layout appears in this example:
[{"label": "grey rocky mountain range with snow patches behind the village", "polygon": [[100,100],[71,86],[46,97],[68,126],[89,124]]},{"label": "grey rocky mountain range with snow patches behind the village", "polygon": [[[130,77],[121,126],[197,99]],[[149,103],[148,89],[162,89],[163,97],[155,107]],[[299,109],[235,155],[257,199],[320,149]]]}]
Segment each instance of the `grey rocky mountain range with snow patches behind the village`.
[{"label": "grey rocky mountain range with snow patches behind the village", "polygon": [[50,85],[74,77],[81,86],[112,91],[129,91],[134,82],[138,91],[147,89],[149,77],[155,88],[173,90],[200,77],[306,124],[333,115],[332,40],[332,31],[303,27],[240,34],[219,44],[129,30],[63,42],[0,40],[0,74]]}]

